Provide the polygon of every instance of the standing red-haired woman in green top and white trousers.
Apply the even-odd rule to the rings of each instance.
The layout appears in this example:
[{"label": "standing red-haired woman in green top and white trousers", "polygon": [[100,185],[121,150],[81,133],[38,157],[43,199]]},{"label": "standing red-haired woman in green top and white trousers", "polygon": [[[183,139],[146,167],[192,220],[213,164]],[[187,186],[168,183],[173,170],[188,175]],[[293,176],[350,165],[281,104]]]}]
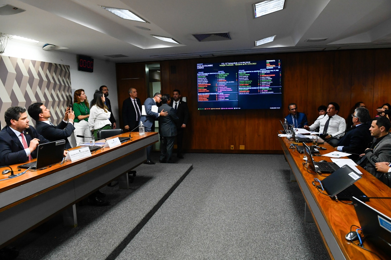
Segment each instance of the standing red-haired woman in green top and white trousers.
[{"label": "standing red-haired woman in green top and white trousers", "polygon": [[76,136],[76,135],[91,136],[90,126],[88,125],[90,108],[89,108],[86,93],[84,93],[84,89],[77,89],[75,91],[73,110],[75,112],[74,134],[76,139],[76,145],[80,146],[83,142],[90,142],[91,139],[91,138],[82,138]]}]

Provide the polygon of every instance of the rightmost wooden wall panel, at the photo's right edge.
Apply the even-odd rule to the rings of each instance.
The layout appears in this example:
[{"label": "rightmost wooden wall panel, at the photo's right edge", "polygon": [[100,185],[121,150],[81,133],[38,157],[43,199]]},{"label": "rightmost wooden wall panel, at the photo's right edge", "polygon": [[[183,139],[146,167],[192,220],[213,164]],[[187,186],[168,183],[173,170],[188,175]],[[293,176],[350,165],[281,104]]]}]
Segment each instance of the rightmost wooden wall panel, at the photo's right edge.
[{"label": "rightmost wooden wall panel, at the photo's right edge", "polygon": [[384,103],[391,103],[391,49],[375,50],[375,83],[373,87],[373,110]]}]

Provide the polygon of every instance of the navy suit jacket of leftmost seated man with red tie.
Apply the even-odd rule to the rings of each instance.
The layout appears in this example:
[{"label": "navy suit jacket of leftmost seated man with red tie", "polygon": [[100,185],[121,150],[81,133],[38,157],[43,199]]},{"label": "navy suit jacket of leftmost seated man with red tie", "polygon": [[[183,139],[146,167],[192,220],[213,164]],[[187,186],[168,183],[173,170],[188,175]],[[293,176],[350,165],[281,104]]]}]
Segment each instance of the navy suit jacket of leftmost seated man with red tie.
[{"label": "navy suit jacket of leftmost seated man with red tie", "polygon": [[[40,144],[49,142],[45,137],[38,134],[34,127],[23,131],[27,141],[27,146],[30,146],[30,141],[34,138],[39,139]],[[37,149],[31,153],[32,158],[37,158]],[[29,157],[26,156],[22,143],[19,141],[16,134],[9,126],[5,126],[0,131],[0,165],[11,165],[26,162]]]}]

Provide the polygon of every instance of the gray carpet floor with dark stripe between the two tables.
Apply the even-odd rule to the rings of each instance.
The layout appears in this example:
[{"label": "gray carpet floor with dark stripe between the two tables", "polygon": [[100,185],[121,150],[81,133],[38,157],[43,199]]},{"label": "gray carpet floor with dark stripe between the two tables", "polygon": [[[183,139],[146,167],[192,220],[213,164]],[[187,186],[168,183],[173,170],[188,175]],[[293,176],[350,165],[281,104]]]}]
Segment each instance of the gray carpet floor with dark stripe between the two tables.
[{"label": "gray carpet floor with dark stripe between the two tables", "polygon": [[41,225],[16,241],[18,259],[329,259],[283,155],[177,162],[139,166],[131,192],[103,188],[111,206],[79,207],[77,228]]}]

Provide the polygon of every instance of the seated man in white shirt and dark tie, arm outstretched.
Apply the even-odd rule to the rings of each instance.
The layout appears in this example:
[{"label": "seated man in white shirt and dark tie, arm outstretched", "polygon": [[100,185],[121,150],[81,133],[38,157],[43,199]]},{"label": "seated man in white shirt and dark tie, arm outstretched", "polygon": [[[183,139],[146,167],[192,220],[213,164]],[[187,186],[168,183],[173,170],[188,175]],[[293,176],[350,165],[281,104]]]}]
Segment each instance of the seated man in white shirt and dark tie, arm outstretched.
[{"label": "seated man in white shirt and dark tie, arm outstretched", "polygon": [[327,107],[327,116],[319,116],[312,125],[305,125],[304,129],[314,131],[319,127],[319,132],[324,134],[323,139],[335,147],[339,138],[343,137],[346,130],[346,121],[337,115],[338,112],[339,105],[335,102],[330,102]]}]

